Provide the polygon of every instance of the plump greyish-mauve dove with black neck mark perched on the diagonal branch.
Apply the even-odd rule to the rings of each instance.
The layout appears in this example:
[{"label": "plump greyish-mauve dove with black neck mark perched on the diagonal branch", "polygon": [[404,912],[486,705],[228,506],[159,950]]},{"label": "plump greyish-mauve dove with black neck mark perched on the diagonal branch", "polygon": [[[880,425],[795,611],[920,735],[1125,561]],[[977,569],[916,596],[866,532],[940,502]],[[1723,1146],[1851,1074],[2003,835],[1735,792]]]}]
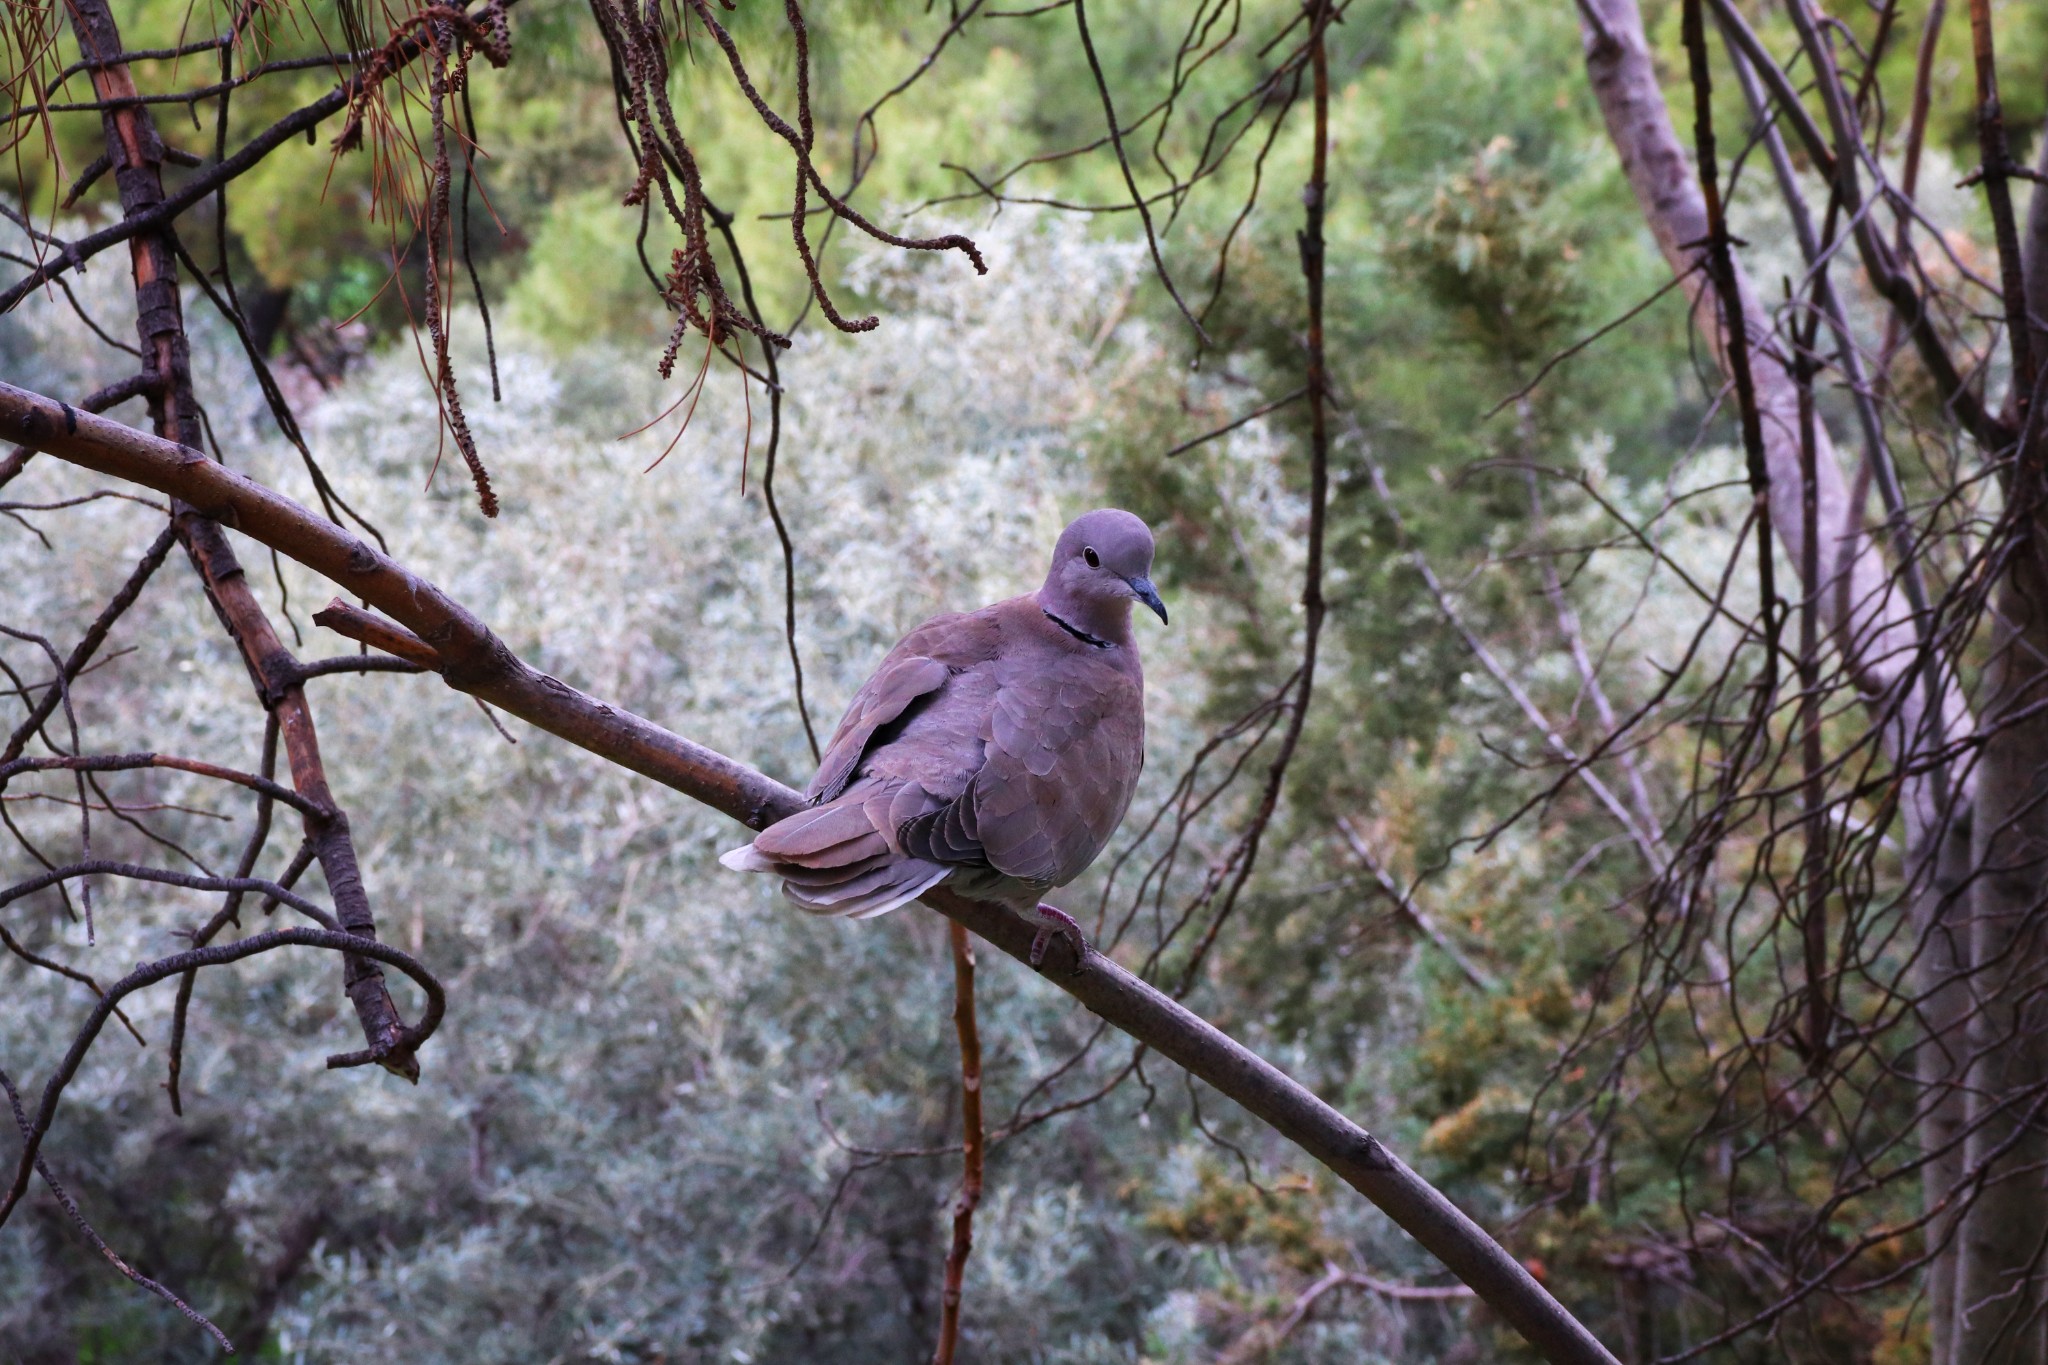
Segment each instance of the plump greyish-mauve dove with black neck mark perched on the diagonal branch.
[{"label": "plump greyish-mauve dove with black neck mark perched on the diagonal branch", "polygon": [[1116,833],[1145,765],[1145,673],[1130,604],[1159,612],[1145,522],[1104,508],[1053,546],[1034,593],[934,616],[854,694],[809,808],[719,862],[782,878],[815,915],[866,919],[940,882],[1087,954],[1040,896]]}]

